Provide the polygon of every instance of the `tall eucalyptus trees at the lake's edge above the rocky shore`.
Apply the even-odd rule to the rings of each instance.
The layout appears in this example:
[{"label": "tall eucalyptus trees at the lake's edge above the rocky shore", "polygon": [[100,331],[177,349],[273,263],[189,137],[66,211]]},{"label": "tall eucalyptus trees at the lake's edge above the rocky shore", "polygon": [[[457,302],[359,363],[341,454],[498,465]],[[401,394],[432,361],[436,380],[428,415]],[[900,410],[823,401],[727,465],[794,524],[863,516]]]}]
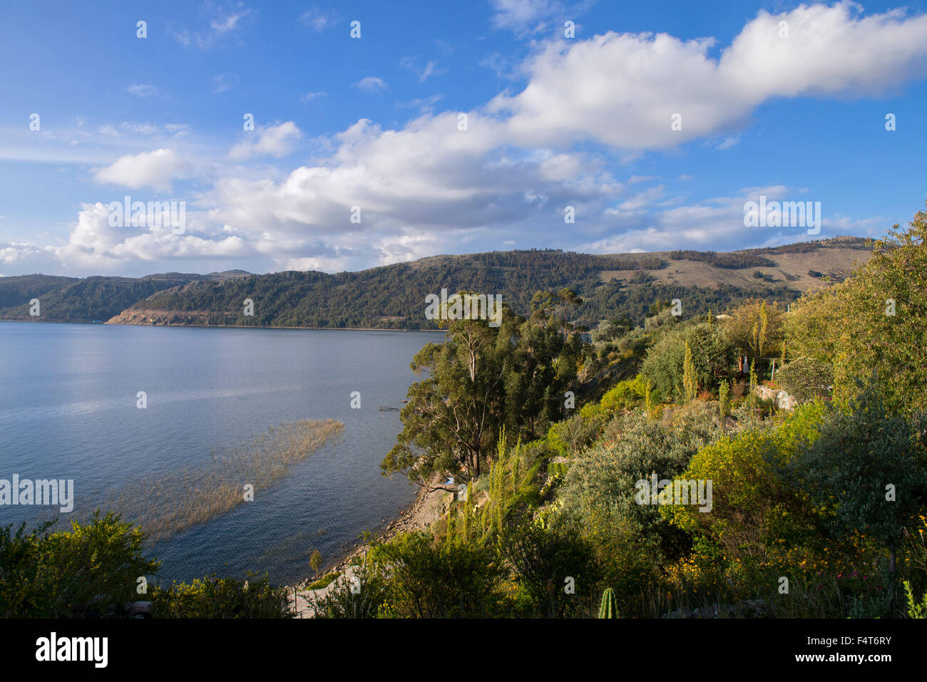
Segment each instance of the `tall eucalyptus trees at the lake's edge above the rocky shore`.
[{"label": "tall eucalyptus trees at the lake's edge above the rocky shore", "polygon": [[470,480],[482,473],[503,428],[531,440],[562,418],[581,342],[578,334],[565,339],[540,308],[535,313],[526,321],[503,306],[499,327],[450,322],[445,343],[416,353],[413,371],[425,378],[409,388],[383,474],[405,474],[423,486],[434,474]]}]

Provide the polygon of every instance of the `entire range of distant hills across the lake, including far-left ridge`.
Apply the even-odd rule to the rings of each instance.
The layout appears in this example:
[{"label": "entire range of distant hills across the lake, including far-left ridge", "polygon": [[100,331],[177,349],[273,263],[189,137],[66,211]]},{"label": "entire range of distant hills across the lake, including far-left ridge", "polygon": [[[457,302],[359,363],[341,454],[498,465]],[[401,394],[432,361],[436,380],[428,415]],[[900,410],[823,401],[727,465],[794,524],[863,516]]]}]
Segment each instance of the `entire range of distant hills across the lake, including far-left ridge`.
[{"label": "entire range of distant hills across the lake, including far-left ridge", "polygon": [[[169,272],[138,279],[30,275],[0,278],[0,319],[121,324],[435,329],[425,296],[459,290],[502,294],[526,314],[536,291],[569,287],[583,297],[576,322],[628,315],[640,322],[657,299],[680,298],[685,314],[720,311],[746,298],[792,301],[841,280],[870,257],[867,240],[817,242],[730,253],[665,251],[593,255],[555,249],[430,256],[361,272]],[[40,291],[41,289],[41,291]],[[244,301],[254,315],[244,315]],[[32,318],[34,319],[34,318]]]}]

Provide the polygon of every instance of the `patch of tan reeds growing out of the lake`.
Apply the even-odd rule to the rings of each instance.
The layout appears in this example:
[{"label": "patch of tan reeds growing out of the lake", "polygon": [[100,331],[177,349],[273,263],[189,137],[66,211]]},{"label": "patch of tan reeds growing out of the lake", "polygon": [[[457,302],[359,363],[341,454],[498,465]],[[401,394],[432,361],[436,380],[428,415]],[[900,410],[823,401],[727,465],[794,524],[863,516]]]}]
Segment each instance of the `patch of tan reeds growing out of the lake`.
[{"label": "patch of tan reeds growing out of the lake", "polygon": [[213,453],[208,467],[146,474],[113,496],[108,509],[135,521],[157,542],[231,511],[245,501],[246,484],[255,493],[272,486],[343,432],[344,424],[334,419],[281,423],[219,456]]}]

